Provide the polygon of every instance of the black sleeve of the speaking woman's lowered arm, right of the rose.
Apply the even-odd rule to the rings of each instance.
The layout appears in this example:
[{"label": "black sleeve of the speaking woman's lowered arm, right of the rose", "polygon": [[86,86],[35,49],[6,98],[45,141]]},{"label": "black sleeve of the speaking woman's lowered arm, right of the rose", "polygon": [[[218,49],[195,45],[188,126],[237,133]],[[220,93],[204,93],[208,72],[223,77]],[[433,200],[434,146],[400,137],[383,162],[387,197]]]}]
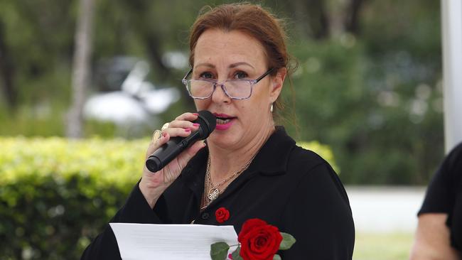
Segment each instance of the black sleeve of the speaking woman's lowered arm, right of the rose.
[{"label": "black sleeve of the speaking woman's lowered arm, right of the rose", "polygon": [[330,166],[310,170],[291,195],[282,215],[281,232],[296,243],[280,251],[282,259],[352,259],[355,227],[348,196]]}]

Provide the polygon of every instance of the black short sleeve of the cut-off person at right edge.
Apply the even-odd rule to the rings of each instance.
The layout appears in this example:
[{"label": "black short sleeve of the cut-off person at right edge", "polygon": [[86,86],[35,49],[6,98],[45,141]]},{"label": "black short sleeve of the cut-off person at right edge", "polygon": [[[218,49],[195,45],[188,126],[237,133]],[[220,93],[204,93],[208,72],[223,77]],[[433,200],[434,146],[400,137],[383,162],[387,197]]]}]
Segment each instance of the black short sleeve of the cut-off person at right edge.
[{"label": "black short sleeve of the cut-off person at right edge", "polygon": [[444,159],[439,170],[433,176],[426,190],[424,203],[417,215],[429,212],[451,212],[456,199],[456,184],[462,170],[462,143],[454,148]]}]

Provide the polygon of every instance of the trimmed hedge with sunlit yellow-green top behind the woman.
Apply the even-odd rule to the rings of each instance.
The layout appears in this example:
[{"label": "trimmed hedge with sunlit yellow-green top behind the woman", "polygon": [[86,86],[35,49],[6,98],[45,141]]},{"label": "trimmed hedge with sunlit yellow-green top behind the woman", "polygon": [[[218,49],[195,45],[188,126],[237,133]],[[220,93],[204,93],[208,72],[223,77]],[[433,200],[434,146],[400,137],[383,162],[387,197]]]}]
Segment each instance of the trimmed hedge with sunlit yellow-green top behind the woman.
[{"label": "trimmed hedge with sunlit yellow-green top behind the woman", "polygon": [[79,259],[139,180],[148,142],[0,137],[1,259]]}]

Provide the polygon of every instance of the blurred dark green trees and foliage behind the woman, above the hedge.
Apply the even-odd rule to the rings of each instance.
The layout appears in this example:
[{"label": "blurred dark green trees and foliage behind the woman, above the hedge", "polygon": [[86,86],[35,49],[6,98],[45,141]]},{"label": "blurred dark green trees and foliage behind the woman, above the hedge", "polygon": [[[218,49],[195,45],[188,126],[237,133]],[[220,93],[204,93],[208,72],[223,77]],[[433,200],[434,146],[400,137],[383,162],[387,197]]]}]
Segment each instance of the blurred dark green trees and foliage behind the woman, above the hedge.
[{"label": "blurred dark green trees and foliage behind the woman, above the hedge", "polygon": [[[148,60],[154,85],[182,93],[159,122],[193,111],[180,82],[187,68],[166,66],[162,55],[187,55],[200,8],[224,2],[97,1],[94,74],[117,56]],[[289,50],[300,63],[294,109],[284,90],[286,116],[298,119],[284,123],[289,134],[331,146],[344,183],[426,184],[444,145],[439,1],[253,2],[288,18]],[[0,1],[0,88],[9,85],[17,99],[11,108],[0,92],[0,135],[64,135],[76,7],[77,0]],[[92,91],[99,84],[95,76]],[[127,136],[110,124],[85,127],[86,136]]]}]

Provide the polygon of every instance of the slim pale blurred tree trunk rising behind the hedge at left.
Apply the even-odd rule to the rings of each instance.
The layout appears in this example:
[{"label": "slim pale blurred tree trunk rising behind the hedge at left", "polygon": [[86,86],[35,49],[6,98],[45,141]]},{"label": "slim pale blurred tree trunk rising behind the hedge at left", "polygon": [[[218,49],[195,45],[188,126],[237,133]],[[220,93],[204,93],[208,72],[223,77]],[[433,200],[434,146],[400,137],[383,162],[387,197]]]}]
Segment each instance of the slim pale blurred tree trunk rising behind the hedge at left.
[{"label": "slim pale blurred tree trunk rising behind the hedge at left", "polygon": [[67,136],[81,138],[82,110],[87,86],[90,83],[90,54],[92,53],[92,23],[94,0],[80,0],[80,13],[75,31],[75,51],[72,64],[72,107],[68,114]]}]

